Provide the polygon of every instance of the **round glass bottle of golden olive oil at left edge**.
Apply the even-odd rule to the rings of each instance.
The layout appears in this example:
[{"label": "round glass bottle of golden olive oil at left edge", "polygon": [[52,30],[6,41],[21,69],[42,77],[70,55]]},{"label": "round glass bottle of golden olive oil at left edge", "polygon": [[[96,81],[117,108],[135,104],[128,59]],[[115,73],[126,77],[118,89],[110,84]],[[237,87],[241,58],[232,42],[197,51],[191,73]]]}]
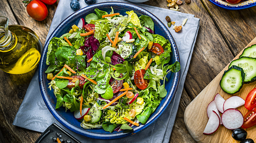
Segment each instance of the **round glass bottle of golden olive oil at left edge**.
[{"label": "round glass bottle of golden olive oil at left edge", "polygon": [[[0,22],[1,19],[3,17]],[[33,70],[40,60],[41,46],[31,29],[21,25],[8,27],[7,20],[5,27],[0,25],[0,69],[11,74]]]}]

